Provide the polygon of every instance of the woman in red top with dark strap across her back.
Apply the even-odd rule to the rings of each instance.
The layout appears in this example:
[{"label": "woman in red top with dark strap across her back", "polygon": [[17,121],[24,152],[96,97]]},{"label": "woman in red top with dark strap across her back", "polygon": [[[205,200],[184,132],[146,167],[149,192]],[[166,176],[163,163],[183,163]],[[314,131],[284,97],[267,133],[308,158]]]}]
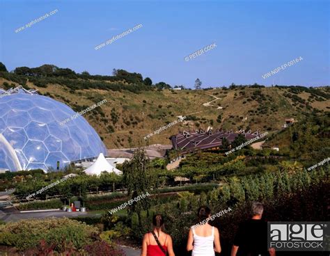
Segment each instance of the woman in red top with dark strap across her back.
[{"label": "woman in red top with dark strap across her back", "polygon": [[162,231],[163,216],[161,214],[153,216],[152,225],[152,232],[143,237],[141,256],[175,256],[171,236]]}]

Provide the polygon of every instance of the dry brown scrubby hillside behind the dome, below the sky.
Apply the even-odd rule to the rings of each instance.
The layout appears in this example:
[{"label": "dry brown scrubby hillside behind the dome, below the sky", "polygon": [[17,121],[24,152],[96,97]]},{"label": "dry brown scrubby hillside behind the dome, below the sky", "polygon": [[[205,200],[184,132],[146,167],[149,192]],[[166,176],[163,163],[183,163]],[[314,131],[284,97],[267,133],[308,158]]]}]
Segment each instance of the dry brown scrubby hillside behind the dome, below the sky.
[{"label": "dry brown scrubby hillside behind the dome, below the sky", "polygon": [[[194,81],[194,77],[191,78]],[[77,74],[54,65],[0,70],[0,88],[36,88],[39,93],[68,104],[74,111],[107,99],[84,118],[108,148],[170,144],[168,138],[183,129],[281,130],[285,118],[301,120],[311,113],[329,113],[330,90],[301,86],[265,87],[258,84],[204,90],[173,90],[164,82],[153,84],[139,73],[113,70],[112,76]],[[211,102],[212,101],[212,102]],[[205,106],[206,105],[206,106]],[[160,134],[152,131],[187,116]]]}]

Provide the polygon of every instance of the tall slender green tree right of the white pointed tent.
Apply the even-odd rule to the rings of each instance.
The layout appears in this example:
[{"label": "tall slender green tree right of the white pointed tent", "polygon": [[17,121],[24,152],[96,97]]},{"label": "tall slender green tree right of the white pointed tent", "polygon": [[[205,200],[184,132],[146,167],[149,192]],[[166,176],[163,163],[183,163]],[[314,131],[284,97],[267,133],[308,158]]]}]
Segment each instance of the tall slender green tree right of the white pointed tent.
[{"label": "tall slender green tree right of the white pointed tent", "polygon": [[[146,195],[146,192],[151,189],[150,170],[147,168],[149,159],[146,157],[146,152],[143,149],[134,151],[134,156],[131,161],[123,163],[123,181],[127,187],[127,195],[130,200],[138,198],[140,195]],[[132,216],[135,212],[141,221],[141,211],[150,207],[150,199],[148,197],[134,202],[129,205],[128,216]],[[141,224],[141,223],[140,223]]]}]

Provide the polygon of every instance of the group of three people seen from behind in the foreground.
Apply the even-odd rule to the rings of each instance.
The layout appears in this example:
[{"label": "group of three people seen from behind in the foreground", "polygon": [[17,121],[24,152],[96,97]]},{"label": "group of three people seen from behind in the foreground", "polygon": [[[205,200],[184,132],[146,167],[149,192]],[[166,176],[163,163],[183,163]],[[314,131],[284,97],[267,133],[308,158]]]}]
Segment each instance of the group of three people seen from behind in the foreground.
[{"label": "group of three people seen from behind in the foreground", "polygon": [[[239,225],[235,235],[231,256],[274,256],[274,248],[267,248],[267,222],[262,220],[263,205],[253,202],[251,218]],[[210,218],[209,207],[199,207],[197,216],[203,222]],[[204,222],[205,223],[205,222]],[[152,218],[152,232],[144,235],[141,256],[175,256],[173,242],[164,230],[164,218],[156,214]],[[189,230],[187,251],[192,256],[215,256],[221,253],[220,234],[217,227],[209,223],[192,226]]]}]

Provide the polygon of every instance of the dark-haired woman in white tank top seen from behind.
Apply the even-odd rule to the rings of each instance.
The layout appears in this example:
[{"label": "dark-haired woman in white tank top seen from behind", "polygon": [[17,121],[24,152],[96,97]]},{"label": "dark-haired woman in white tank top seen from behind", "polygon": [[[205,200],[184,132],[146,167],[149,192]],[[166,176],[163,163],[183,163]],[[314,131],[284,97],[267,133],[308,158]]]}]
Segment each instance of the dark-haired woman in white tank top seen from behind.
[{"label": "dark-haired woman in white tank top seen from behind", "polygon": [[214,256],[214,252],[221,252],[219,230],[207,223],[210,215],[209,207],[199,207],[197,216],[200,223],[191,227],[187,242],[187,250],[192,250],[191,256]]}]

